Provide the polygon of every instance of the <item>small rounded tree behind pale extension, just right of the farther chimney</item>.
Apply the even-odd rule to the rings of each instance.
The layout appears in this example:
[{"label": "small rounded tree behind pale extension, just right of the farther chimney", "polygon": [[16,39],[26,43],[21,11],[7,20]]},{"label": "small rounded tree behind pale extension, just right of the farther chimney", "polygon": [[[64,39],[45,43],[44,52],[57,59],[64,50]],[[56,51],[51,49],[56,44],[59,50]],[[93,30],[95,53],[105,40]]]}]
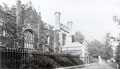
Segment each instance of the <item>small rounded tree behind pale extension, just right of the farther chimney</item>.
[{"label": "small rounded tree behind pale extension, just right of the farther chimney", "polygon": [[74,35],[73,35],[73,42],[80,42],[80,43],[83,43],[85,40],[85,37],[83,36],[83,34],[79,31],[79,32],[76,32]]}]

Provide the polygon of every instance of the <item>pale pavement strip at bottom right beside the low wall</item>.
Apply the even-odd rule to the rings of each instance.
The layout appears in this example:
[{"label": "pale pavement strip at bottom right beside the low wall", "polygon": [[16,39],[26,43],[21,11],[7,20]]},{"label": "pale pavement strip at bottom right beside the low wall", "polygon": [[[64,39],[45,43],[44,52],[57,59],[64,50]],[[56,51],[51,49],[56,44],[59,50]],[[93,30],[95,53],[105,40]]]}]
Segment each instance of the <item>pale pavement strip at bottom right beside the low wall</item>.
[{"label": "pale pavement strip at bottom right beside the low wall", "polygon": [[103,64],[95,64],[91,66],[86,66],[84,68],[75,68],[75,69],[116,69],[115,63],[103,63]]}]

